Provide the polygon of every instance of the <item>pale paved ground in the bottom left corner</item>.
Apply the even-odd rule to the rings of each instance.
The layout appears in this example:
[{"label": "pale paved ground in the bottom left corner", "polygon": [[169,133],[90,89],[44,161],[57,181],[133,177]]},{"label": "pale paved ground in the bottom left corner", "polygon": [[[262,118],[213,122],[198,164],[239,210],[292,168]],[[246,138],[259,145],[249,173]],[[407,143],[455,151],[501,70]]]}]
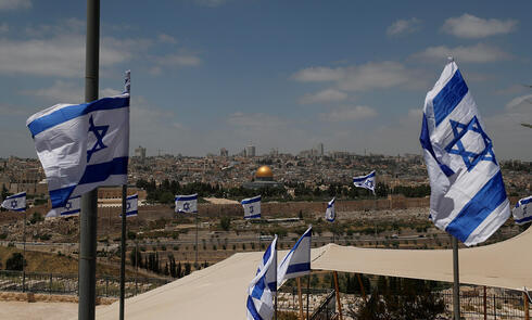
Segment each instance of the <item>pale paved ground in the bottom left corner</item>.
[{"label": "pale paved ground in the bottom left corner", "polygon": [[[98,306],[102,308],[104,306]],[[76,319],[77,304],[0,302],[0,319],[9,320],[63,320]]]}]

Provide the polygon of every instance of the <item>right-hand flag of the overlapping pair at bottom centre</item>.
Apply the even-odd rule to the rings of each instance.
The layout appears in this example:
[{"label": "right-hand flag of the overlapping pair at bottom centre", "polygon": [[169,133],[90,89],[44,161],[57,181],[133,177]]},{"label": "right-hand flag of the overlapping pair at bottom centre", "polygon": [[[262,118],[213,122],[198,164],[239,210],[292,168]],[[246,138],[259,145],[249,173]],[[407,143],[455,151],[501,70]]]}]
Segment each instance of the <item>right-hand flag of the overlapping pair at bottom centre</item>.
[{"label": "right-hand flag of the overlapping pair at bottom centre", "polygon": [[311,273],[311,240],[313,227],[301,235],[294,247],[282,259],[277,268],[277,286],[279,287],[284,280],[297,278]]}]

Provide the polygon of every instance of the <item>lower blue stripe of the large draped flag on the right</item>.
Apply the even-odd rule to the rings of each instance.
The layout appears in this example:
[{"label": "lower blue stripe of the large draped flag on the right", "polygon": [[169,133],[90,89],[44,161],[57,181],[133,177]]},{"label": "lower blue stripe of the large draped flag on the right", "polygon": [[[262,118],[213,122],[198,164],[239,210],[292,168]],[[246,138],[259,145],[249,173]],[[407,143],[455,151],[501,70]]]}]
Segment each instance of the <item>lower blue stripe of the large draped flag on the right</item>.
[{"label": "lower blue stripe of the large draped flag on the right", "polygon": [[503,175],[498,171],[447,225],[445,231],[465,242],[469,234],[506,200]]}]

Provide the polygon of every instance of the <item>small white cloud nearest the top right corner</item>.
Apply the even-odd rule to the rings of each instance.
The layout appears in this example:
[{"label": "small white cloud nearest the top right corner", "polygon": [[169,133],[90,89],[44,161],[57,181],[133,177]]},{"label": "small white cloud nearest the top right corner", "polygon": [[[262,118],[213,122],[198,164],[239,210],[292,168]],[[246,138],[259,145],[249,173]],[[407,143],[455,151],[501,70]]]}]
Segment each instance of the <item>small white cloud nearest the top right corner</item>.
[{"label": "small white cloud nearest the top right corner", "polygon": [[449,17],[442,26],[442,30],[459,38],[478,39],[495,35],[505,35],[514,31],[518,21],[481,18],[471,14]]}]

